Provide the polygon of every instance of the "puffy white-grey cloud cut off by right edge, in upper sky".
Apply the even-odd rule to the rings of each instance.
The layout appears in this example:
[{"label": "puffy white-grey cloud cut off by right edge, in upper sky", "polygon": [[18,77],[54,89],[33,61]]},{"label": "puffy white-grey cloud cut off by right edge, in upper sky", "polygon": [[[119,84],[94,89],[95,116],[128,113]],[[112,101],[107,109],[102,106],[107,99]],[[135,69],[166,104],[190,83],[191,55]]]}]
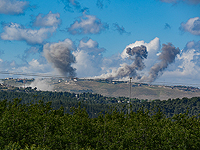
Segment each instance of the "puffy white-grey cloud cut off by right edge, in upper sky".
[{"label": "puffy white-grey cloud cut off by right edge, in upper sky", "polygon": [[200,18],[190,18],[186,23],[181,23],[180,29],[194,35],[200,35]]}]

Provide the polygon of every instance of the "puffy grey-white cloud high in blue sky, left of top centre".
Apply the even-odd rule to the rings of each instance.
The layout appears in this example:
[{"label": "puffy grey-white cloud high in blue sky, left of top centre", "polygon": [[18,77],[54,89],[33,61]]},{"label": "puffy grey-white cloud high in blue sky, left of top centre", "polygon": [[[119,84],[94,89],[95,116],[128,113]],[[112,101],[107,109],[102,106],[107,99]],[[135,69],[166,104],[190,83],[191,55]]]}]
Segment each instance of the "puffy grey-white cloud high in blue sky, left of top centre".
[{"label": "puffy grey-white cloud high in blue sky, left of top centre", "polygon": [[68,28],[70,34],[98,34],[101,31],[108,28],[106,23],[102,23],[100,19],[96,16],[86,15],[83,13],[83,16],[79,20],[76,20]]}]

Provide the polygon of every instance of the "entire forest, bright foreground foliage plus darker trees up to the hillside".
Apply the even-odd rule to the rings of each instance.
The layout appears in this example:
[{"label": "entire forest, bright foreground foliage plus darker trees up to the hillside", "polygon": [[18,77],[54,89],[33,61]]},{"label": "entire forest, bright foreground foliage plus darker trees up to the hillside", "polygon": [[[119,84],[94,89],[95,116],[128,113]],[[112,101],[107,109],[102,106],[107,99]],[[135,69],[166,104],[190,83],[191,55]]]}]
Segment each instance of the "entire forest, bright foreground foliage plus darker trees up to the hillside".
[{"label": "entire forest, bright foreground foliage plus darker trees up to the hillside", "polygon": [[0,149],[199,149],[200,97],[128,100],[1,91]]}]

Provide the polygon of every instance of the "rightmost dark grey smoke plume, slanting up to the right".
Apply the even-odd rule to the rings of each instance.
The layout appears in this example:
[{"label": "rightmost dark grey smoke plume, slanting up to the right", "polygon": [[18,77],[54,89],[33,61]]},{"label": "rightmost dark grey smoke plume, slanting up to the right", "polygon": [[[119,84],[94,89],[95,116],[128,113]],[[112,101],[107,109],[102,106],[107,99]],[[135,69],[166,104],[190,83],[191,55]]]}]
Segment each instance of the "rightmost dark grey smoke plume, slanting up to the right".
[{"label": "rightmost dark grey smoke plume, slanting up to the right", "polygon": [[147,79],[150,82],[155,81],[159,74],[162,74],[162,71],[165,70],[169,64],[173,63],[176,55],[180,53],[179,48],[175,48],[171,43],[168,43],[167,45],[163,44],[161,50],[162,52],[158,58],[161,61],[150,69]]}]

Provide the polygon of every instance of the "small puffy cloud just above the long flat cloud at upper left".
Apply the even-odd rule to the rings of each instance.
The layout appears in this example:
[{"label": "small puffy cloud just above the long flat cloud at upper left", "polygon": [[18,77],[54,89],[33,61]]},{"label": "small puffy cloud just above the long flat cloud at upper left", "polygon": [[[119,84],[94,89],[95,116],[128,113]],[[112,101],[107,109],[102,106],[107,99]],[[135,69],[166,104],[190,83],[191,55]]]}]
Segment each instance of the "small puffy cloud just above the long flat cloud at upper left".
[{"label": "small puffy cloud just above the long flat cloud at upper left", "polygon": [[51,27],[57,26],[61,23],[60,14],[53,14],[51,11],[47,15],[39,14],[35,21],[33,22],[34,26],[39,27]]}]

